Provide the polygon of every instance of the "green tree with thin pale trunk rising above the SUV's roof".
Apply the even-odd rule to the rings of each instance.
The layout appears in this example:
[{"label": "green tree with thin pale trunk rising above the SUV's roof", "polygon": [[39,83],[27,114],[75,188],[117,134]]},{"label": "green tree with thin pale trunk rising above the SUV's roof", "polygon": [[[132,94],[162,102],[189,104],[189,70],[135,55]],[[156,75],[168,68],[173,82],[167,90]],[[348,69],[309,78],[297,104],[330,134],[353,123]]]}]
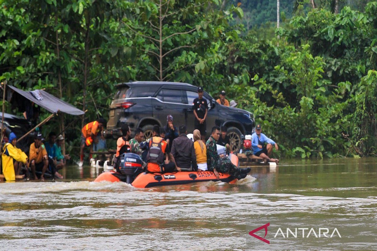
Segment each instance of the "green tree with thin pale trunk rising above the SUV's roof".
[{"label": "green tree with thin pale trunk rising above the SUV's roof", "polygon": [[[232,11],[218,10],[216,0],[151,0],[129,4],[123,23],[133,32],[134,45],[146,53],[147,70],[159,81],[190,79],[186,70],[193,68],[205,46],[216,40],[227,26]],[[202,15],[202,13],[205,13]],[[150,69],[150,68],[153,69]],[[199,65],[202,67],[202,64]],[[150,74],[147,74],[150,78]]]}]

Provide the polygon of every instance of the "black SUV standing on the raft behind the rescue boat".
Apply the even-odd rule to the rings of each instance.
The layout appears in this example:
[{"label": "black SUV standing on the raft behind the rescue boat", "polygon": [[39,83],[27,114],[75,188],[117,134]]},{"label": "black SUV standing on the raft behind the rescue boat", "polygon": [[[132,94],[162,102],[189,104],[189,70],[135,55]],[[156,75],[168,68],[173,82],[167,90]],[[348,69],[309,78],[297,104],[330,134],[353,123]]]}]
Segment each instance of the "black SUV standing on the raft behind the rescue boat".
[{"label": "black SUV standing on the raft behind the rescue boat", "polygon": [[[128,82],[117,85],[118,91],[110,105],[107,135],[120,137],[120,128],[128,123],[131,130],[142,128],[146,137],[152,134],[153,125],[165,126],[166,116],[172,114],[174,125],[186,125],[194,130],[193,100],[198,97],[198,87],[176,82]],[[228,127],[228,136],[234,152],[241,149],[241,135],[251,134],[253,114],[238,108],[219,105],[208,93],[207,135],[214,125]]]}]

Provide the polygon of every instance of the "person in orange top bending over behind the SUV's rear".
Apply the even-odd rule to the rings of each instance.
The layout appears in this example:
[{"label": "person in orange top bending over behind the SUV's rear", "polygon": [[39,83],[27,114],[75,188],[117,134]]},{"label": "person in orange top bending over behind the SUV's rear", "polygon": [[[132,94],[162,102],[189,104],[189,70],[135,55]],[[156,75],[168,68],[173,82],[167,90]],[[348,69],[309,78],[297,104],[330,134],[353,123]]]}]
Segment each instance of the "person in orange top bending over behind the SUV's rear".
[{"label": "person in orange top bending over behind the SUV's rear", "polygon": [[80,162],[79,166],[83,166],[84,160],[84,148],[85,146],[90,146],[90,151],[93,148],[93,140],[97,136],[98,132],[101,132],[101,137],[103,137],[103,129],[106,125],[106,120],[104,118],[97,119],[93,122],[87,123],[81,129],[81,145],[80,145]]}]

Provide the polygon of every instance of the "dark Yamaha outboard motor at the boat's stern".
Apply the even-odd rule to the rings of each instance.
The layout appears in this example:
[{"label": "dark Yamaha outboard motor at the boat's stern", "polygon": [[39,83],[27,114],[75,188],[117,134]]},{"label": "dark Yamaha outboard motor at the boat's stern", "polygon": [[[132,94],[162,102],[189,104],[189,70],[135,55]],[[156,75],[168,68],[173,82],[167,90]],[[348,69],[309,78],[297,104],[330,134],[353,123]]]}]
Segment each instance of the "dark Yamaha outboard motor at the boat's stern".
[{"label": "dark Yamaha outboard motor at the boat's stern", "polygon": [[116,171],[126,176],[126,183],[131,184],[133,179],[143,172],[143,161],[139,155],[129,152],[120,155],[119,158],[120,164]]}]

